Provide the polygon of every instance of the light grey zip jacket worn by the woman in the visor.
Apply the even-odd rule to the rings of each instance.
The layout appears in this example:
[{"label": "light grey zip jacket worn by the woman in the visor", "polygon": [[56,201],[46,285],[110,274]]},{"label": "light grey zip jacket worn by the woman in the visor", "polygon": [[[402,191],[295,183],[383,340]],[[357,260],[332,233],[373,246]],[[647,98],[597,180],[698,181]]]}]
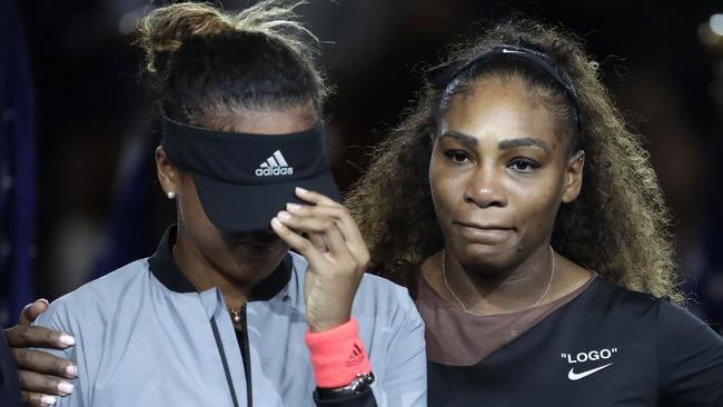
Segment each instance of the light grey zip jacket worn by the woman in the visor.
[{"label": "light grey zip jacket worn by the woman in the visor", "polygon": [[[58,406],[313,406],[304,341],[304,274],[290,252],[234,329],[221,292],[197,292],[172,260],[175,229],[158,251],[53,301],[36,324],[77,345],[72,395]],[[285,266],[286,265],[286,266]],[[366,275],[353,315],[378,406],[426,406],[424,325],[405,288]],[[240,344],[240,345],[239,345]],[[244,354],[244,355],[242,355]]]}]

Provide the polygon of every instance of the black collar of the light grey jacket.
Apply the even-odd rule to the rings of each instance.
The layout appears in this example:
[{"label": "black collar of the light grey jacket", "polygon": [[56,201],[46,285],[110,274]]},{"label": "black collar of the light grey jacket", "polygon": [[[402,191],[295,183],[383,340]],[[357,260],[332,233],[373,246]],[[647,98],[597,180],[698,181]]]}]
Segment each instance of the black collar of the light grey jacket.
[{"label": "black collar of the light grey jacket", "polygon": [[[178,267],[176,259],[174,259],[172,250],[174,245],[176,244],[177,231],[177,225],[171,225],[166,229],[164,237],[158,244],[158,249],[156,249],[156,252],[148,258],[150,272],[171,291],[197,292],[198,290],[196,287],[194,287],[191,281]],[[291,278],[291,256],[287,254],[276,270],[254,287],[249,301],[268,300],[284,290]]]}]

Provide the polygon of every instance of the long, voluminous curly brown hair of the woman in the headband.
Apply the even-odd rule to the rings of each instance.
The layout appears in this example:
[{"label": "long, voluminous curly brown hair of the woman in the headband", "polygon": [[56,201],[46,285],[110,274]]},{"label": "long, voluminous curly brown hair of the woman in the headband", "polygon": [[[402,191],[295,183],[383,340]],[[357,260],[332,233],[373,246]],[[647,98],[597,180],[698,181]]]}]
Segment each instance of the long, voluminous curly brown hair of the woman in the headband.
[{"label": "long, voluminous curly brown hair of the woman in the headband", "polygon": [[[615,284],[680,302],[670,215],[657,177],[641,137],[627,127],[603,87],[598,63],[575,36],[525,19],[498,23],[471,43],[454,46],[445,63],[469,60],[501,44],[545,53],[566,71],[578,95],[582,125],[574,143],[585,151],[585,171],[578,198],[557,214],[555,250]],[[489,73],[477,72],[469,80]],[[563,92],[556,91],[564,102]],[[425,85],[416,106],[374,149],[366,173],[348,195],[347,205],[372,251],[373,269],[393,280],[400,281],[402,271],[444,246],[428,170],[445,93]],[[543,102],[558,115],[571,113],[551,107],[553,99],[543,97]]]}]

